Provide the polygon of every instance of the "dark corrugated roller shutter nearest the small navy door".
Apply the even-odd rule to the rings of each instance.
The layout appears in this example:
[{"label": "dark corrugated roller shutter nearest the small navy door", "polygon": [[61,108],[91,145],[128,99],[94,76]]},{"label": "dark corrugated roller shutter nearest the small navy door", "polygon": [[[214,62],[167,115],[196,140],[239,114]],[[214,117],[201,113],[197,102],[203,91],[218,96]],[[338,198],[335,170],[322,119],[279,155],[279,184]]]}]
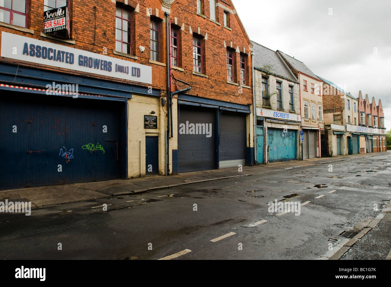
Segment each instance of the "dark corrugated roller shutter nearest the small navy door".
[{"label": "dark corrugated roller shutter nearest the small navy door", "polygon": [[[215,169],[215,117],[213,111],[189,109],[179,105],[178,112],[178,172]],[[189,127],[181,133],[181,124]],[[198,125],[201,134],[193,134],[191,124]],[[200,125],[201,124],[201,125]],[[202,124],[205,124],[203,130]],[[206,125],[208,129],[206,130]],[[212,131],[209,127],[212,126]],[[183,127],[183,125],[182,125]],[[194,129],[195,130],[195,129]],[[183,129],[182,129],[183,131]],[[206,134],[206,132],[210,134]]]}]

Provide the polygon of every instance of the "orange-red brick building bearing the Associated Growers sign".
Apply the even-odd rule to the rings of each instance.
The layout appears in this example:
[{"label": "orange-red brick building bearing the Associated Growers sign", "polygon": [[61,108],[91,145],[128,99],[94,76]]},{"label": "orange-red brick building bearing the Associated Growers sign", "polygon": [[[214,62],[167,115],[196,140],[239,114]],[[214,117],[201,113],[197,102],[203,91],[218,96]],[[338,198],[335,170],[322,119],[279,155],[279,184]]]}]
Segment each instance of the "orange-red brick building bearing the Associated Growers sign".
[{"label": "orange-red brick building bearing the Associated Growers sign", "polygon": [[[251,43],[231,1],[198,2],[1,3],[0,188],[251,164]],[[191,87],[172,110],[169,42],[171,91]],[[178,143],[187,121],[205,139]]]}]

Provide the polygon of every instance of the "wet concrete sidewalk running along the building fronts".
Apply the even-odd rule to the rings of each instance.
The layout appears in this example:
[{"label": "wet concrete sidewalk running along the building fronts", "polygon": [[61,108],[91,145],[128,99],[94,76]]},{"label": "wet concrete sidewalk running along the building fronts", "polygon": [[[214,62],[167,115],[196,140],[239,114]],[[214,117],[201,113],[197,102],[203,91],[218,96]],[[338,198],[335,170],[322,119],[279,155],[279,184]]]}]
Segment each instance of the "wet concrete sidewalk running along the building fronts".
[{"label": "wet concrete sidewalk running along the building fronts", "polygon": [[21,188],[15,190],[0,191],[0,200],[4,201],[30,201],[32,206],[40,207],[50,204],[62,204],[68,202],[99,199],[109,196],[135,194],[151,190],[170,188],[197,182],[214,181],[231,177],[262,174],[277,170],[291,169],[300,166],[312,166],[347,159],[371,157],[375,155],[391,153],[363,153],[357,155],[342,155],[337,157],[323,157],[307,159],[304,161],[285,161],[262,164],[259,166],[243,166],[239,168],[224,168],[221,170],[206,170],[180,173],[169,176],[147,176],[136,179],[115,179],[110,181],[95,181],[56,186],[41,186],[35,188]]}]

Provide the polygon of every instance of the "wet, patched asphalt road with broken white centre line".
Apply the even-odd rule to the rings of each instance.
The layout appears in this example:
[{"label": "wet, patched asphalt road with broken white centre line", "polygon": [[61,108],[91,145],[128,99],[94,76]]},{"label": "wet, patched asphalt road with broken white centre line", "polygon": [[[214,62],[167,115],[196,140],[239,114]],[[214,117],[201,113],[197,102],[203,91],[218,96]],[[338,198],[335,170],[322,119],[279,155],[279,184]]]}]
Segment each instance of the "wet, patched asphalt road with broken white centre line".
[{"label": "wet, patched asphalt road with broken white centre line", "polygon": [[[346,239],[342,231],[358,232],[381,212],[391,199],[390,171],[391,155],[383,153],[48,206],[31,216],[2,213],[0,260],[160,259],[184,250],[174,259],[319,259]],[[269,212],[274,200],[310,202],[295,215]],[[380,224],[389,234],[389,222]],[[367,259],[373,249],[377,259],[387,256],[389,240],[380,248],[365,238],[344,258]]]}]

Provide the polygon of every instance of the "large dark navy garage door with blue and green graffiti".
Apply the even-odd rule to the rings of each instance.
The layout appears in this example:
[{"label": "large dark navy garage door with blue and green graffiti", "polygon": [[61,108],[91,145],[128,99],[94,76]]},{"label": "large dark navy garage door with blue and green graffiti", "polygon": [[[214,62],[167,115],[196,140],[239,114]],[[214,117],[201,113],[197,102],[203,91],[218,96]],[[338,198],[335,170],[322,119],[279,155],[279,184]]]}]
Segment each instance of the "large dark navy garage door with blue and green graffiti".
[{"label": "large dark navy garage door with blue and green graffiti", "polygon": [[0,189],[120,178],[123,106],[16,92],[4,97]]}]

